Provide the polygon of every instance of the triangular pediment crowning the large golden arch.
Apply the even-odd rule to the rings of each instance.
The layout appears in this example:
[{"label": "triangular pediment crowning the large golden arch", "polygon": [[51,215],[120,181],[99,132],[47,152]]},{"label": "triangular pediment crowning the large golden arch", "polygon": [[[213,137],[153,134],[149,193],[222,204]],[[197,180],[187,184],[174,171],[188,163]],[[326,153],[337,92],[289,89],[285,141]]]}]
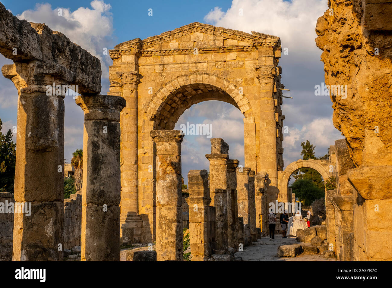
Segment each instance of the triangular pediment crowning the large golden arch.
[{"label": "triangular pediment crowning the large golden arch", "polygon": [[176,42],[192,43],[194,41],[198,42],[198,47],[216,47],[222,46],[223,40],[227,40],[227,45],[229,46],[255,45],[257,43],[280,44],[280,39],[277,36],[254,31],[252,31],[252,34],[249,34],[243,31],[193,22],[172,31],[148,37],[144,40],[136,38],[134,40],[123,42],[116,45],[114,49],[128,50],[139,46],[142,50],[161,50],[167,49],[168,47],[168,45],[164,45],[164,43],[172,43],[172,47],[175,48]]}]

